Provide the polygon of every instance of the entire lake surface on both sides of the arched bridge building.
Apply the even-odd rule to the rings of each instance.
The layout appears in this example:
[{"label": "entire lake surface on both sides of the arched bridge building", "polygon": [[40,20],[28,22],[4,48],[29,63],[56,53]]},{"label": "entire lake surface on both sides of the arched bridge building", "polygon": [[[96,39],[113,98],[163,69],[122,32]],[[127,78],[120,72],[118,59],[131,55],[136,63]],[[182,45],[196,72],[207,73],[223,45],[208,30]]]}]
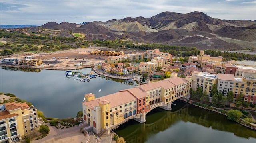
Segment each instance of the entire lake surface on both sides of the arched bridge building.
[{"label": "entire lake surface on both sides of the arched bridge building", "polygon": [[[84,94],[100,97],[136,86],[99,77],[80,82],[73,80],[77,77],[65,78],[65,71],[22,70],[1,67],[0,91],[32,102],[46,117],[75,117],[82,110]],[[91,69],[79,71],[89,73]],[[228,121],[226,116],[182,102],[172,109],[156,108],[146,115],[146,123],[129,120],[115,132],[127,143],[256,143],[256,131]]]}]

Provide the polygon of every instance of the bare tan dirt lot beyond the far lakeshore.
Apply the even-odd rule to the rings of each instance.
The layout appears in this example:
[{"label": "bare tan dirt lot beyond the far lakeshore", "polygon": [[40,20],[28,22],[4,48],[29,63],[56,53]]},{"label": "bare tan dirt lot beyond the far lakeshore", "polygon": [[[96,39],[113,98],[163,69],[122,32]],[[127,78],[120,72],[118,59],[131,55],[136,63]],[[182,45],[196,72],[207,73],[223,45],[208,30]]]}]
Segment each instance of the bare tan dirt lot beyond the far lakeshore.
[{"label": "bare tan dirt lot beyond the far lakeshore", "polygon": [[[57,51],[52,53],[20,53],[12,54],[8,58],[20,58],[24,59],[26,56],[32,56],[32,59],[43,60],[43,65],[36,67],[39,69],[80,69],[84,67],[91,67],[96,63],[104,62],[104,59],[108,56],[98,56],[90,55],[90,51],[115,51],[116,49],[110,49],[106,47],[90,47],[90,48],[80,48],[71,49],[66,51]],[[120,51],[120,49],[118,49]],[[126,50],[126,53],[131,53],[134,51]],[[1,57],[5,58],[5,57]],[[56,60],[56,59],[57,60]],[[59,63],[56,63],[59,62]],[[81,66],[75,66],[77,63],[82,63]]]}]

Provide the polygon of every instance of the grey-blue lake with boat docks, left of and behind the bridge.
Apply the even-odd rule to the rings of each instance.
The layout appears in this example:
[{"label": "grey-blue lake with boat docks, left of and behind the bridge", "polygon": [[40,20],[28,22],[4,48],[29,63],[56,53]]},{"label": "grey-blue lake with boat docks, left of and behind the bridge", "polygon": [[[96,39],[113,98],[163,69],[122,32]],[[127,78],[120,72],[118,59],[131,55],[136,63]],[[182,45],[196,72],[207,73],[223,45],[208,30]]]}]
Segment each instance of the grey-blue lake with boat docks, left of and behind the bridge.
[{"label": "grey-blue lake with boat docks, left of and behind the bridge", "polygon": [[[80,82],[74,80],[77,77],[66,78],[65,71],[59,70],[24,71],[1,67],[0,91],[31,102],[46,117],[53,118],[76,117],[77,112],[82,111],[84,94],[93,93],[97,98],[136,86],[135,82],[130,85],[124,83],[124,80],[100,77],[93,78],[90,82]],[[78,71],[89,73],[91,69]],[[101,92],[98,92],[99,89]]]}]

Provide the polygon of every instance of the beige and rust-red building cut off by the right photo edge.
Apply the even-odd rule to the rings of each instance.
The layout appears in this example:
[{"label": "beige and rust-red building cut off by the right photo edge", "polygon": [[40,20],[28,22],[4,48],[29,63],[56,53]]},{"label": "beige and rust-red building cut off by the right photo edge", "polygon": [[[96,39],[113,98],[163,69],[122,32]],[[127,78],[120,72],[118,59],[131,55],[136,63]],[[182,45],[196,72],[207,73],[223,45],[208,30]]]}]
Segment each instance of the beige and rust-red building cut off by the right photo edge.
[{"label": "beige and rust-red building cut off by the right photo edge", "polygon": [[234,80],[234,102],[238,94],[243,94],[244,102],[250,102],[250,104],[256,104],[255,88],[256,88],[256,70],[243,70],[236,71],[242,76],[236,76]]}]

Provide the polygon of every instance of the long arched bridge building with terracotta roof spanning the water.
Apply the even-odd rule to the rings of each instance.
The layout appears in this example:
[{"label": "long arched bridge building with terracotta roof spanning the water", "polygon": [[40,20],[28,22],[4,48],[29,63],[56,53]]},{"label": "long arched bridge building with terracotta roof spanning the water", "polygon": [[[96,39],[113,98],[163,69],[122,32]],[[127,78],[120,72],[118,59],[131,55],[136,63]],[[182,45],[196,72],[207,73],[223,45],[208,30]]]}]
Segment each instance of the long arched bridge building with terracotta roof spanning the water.
[{"label": "long arched bridge building with terracotta roof spanning the water", "polygon": [[92,93],[85,94],[82,103],[84,122],[99,134],[110,131],[114,127],[135,119],[143,123],[150,110],[160,107],[171,110],[171,103],[189,95],[192,77],[177,77],[174,73],[171,78],[140,85],[131,89],[95,98]]}]

